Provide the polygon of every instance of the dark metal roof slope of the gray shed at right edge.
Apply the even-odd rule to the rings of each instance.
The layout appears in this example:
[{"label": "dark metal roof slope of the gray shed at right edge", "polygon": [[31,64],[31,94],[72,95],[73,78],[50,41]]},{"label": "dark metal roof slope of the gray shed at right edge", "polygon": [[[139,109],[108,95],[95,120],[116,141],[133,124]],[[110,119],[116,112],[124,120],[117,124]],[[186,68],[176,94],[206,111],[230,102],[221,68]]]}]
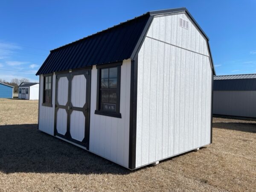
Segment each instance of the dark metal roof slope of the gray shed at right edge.
[{"label": "dark metal roof slope of the gray shed at right edge", "polygon": [[213,90],[256,91],[256,79],[223,79],[213,81]]}]

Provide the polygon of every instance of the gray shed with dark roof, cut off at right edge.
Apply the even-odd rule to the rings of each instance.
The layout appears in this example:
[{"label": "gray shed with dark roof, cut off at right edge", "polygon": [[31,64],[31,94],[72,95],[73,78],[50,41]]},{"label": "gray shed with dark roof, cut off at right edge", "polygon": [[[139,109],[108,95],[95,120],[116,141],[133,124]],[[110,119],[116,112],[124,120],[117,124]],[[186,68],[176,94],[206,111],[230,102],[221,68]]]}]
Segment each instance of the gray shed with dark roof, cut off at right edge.
[{"label": "gray shed with dark roof, cut off at right edge", "polygon": [[213,114],[256,118],[256,74],[215,76]]}]

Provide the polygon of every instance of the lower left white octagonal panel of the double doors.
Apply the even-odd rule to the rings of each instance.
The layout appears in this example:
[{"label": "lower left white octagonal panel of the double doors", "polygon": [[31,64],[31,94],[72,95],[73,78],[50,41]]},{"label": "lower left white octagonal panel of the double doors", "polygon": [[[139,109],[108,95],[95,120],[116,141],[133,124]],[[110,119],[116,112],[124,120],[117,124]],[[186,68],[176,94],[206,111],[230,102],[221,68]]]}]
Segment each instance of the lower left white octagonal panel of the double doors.
[{"label": "lower left white octagonal panel of the double doors", "polygon": [[56,129],[58,133],[65,135],[67,133],[67,111],[65,109],[58,109],[56,121]]}]

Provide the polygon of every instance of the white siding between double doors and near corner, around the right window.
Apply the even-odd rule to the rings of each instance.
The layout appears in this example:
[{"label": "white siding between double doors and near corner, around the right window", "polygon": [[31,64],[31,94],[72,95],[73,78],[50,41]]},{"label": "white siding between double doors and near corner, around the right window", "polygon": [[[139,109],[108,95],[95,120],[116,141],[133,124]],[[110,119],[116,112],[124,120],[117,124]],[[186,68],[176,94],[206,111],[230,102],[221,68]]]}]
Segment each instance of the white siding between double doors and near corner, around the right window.
[{"label": "white siding between double doors and near corner, around the right window", "polygon": [[96,110],[97,69],[93,66],[90,108],[90,151],[128,167],[131,60],[121,66],[120,113],[122,118],[94,114]]}]

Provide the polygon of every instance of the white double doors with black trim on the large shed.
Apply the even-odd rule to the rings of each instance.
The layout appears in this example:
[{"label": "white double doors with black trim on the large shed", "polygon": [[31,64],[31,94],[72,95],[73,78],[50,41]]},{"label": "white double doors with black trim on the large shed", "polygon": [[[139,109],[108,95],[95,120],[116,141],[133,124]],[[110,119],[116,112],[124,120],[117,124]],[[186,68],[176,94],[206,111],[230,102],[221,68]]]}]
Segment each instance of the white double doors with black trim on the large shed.
[{"label": "white double doors with black trim on the large shed", "polygon": [[54,135],[89,150],[90,70],[56,75]]}]

